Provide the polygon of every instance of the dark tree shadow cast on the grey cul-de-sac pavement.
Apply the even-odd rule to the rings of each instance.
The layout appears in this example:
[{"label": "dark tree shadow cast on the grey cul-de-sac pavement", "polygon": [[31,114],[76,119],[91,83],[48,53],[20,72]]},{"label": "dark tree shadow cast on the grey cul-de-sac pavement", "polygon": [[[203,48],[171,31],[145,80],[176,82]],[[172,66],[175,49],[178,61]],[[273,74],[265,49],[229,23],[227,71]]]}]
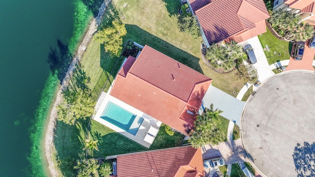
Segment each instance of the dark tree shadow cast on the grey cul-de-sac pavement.
[{"label": "dark tree shadow cast on the grey cul-de-sac pavement", "polygon": [[297,177],[315,177],[315,142],[298,143],[292,156]]}]

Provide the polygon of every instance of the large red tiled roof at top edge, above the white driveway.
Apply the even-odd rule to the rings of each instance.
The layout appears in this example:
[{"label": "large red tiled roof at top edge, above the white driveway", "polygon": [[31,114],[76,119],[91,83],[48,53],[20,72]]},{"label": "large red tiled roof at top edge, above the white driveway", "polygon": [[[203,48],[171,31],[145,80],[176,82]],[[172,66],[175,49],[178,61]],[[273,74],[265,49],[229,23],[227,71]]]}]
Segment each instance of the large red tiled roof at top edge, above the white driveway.
[{"label": "large red tiled roof at top edge, above the white driveway", "polygon": [[[189,0],[209,44],[225,39],[241,42],[266,31],[261,30],[262,21],[269,18],[263,0]],[[200,7],[204,5],[203,7]],[[258,29],[259,28],[259,29]],[[248,32],[249,30],[252,30]],[[255,31],[256,30],[256,31]],[[247,35],[239,35],[248,32]],[[239,36],[234,36],[239,35]]]}]

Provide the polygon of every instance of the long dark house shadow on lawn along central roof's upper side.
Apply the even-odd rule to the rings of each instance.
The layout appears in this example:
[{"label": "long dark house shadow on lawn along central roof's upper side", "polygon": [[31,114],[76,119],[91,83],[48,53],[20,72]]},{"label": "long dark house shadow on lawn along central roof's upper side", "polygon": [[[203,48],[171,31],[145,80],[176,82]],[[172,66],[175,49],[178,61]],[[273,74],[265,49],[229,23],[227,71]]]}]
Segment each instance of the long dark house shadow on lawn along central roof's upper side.
[{"label": "long dark house shadow on lawn along central roof's upper side", "polygon": [[199,65],[199,59],[190,55],[189,53],[173,46],[170,43],[158,38],[157,36],[139,28],[136,25],[126,24],[127,34],[124,37],[124,41],[130,39],[141,45],[148,45],[159,52],[175,59],[190,68],[203,74],[201,67]]}]

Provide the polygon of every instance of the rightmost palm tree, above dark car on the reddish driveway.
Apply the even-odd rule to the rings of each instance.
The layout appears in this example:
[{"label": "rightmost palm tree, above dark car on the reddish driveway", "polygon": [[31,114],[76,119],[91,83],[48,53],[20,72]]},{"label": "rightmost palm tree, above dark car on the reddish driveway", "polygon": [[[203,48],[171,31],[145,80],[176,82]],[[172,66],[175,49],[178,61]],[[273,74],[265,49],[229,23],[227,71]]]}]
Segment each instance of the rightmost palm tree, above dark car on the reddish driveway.
[{"label": "rightmost palm tree, above dark car on the reddish driveway", "polygon": [[312,38],[315,30],[312,25],[309,23],[301,22],[299,23],[292,31],[293,39],[296,41],[307,41]]}]

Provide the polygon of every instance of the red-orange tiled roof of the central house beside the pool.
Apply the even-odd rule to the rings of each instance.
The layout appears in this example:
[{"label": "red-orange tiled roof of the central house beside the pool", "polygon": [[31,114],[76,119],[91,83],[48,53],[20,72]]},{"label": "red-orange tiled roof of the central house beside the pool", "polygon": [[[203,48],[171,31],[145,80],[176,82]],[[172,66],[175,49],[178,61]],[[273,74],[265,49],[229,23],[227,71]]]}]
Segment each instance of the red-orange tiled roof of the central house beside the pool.
[{"label": "red-orange tiled roof of the central house beside the pool", "polygon": [[110,95],[187,134],[212,80],[145,46],[129,57],[117,74]]}]

